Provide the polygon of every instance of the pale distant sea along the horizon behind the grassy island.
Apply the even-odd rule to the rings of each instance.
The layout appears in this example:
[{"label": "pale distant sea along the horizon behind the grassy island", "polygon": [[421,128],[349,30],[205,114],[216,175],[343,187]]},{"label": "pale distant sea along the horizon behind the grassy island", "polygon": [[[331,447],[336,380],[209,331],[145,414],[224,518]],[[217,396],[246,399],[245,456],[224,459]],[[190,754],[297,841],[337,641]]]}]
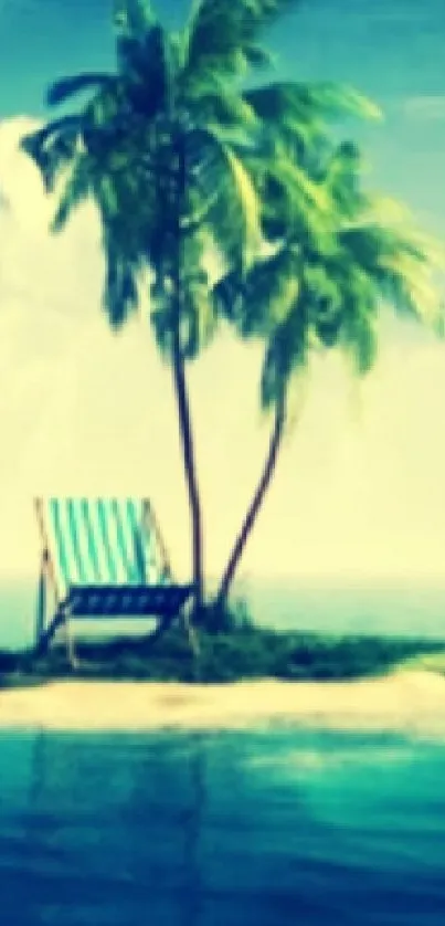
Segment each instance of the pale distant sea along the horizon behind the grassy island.
[{"label": "pale distant sea along the horizon behind the grassy island", "polygon": [[[237,590],[262,624],[284,630],[332,633],[382,633],[445,638],[445,578],[435,583],[374,581],[368,583],[251,581]],[[33,640],[36,583],[0,582],[0,649],[20,649]],[[97,622],[82,622],[97,633]],[[117,628],[146,631],[144,621],[113,621]]]}]

